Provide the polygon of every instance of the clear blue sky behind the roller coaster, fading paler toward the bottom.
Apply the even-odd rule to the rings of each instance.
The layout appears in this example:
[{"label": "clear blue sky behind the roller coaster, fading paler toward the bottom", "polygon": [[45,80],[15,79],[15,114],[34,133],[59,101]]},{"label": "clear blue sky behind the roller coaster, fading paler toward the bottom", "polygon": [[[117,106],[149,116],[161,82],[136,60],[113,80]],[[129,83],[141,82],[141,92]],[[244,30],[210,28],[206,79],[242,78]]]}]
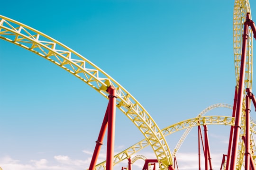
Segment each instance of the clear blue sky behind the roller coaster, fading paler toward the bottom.
[{"label": "clear blue sky behind the roller coaster, fading paler toward the bottom", "polygon": [[[250,4],[254,19],[256,1]],[[1,6],[0,15],[53,37],[103,69],[160,128],[193,118],[215,103],[233,104],[232,0],[15,0]],[[63,69],[1,40],[0,167],[88,168],[107,103]],[[209,113],[216,114],[231,115],[231,110]],[[219,169],[229,127],[209,130],[214,168]],[[197,155],[196,134],[192,130],[184,142],[179,168],[197,166],[186,159]],[[181,135],[166,138],[171,150]],[[115,152],[143,138],[117,110]],[[103,146],[100,161],[105,152]],[[154,159],[150,148],[141,154]]]}]

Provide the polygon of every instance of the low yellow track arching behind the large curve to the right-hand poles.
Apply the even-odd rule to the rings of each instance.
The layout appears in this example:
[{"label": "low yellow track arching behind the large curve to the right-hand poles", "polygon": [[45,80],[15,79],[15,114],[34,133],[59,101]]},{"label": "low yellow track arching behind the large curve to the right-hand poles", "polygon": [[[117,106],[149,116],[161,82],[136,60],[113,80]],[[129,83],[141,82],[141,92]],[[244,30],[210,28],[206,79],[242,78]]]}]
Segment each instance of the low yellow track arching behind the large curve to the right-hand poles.
[{"label": "low yellow track arching behind the large curve to the right-hand poles", "polygon": [[[205,117],[197,117],[192,119],[187,119],[181,121],[179,123],[175,123],[169,127],[165,127],[162,129],[163,134],[165,136],[171,135],[174,132],[178,132],[183,129],[200,126],[200,125],[234,125],[234,118],[228,116],[205,116]],[[256,132],[256,124],[253,122],[251,123],[252,130]],[[145,147],[149,146],[149,143],[146,139],[139,141],[137,144],[132,145],[131,147],[127,148],[126,150],[116,154],[114,156],[114,165],[117,163],[128,159],[131,155],[141,151]],[[106,161],[103,161],[96,165],[96,170],[106,170]]]}]

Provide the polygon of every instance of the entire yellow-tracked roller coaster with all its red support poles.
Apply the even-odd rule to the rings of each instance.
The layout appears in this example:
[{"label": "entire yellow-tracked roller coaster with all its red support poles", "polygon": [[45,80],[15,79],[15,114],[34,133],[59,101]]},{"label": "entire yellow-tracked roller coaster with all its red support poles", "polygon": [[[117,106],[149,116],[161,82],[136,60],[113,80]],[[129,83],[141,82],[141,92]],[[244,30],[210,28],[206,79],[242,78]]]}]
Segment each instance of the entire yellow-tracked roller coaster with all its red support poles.
[{"label": "entire yellow-tracked roller coaster with all its red support poles", "polygon": [[[76,76],[109,100],[99,137],[96,140],[89,170],[112,170],[115,164],[124,160],[128,160],[128,166],[123,167],[123,169],[131,170],[132,161],[136,161],[137,159],[143,159],[145,161],[143,170],[150,169],[151,167],[149,165],[154,163],[158,163],[158,168],[161,170],[178,169],[177,164],[175,164],[175,155],[192,127],[198,127],[199,145],[202,144],[203,147],[205,169],[212,170],[207,133],[207,125],[210,124],[230,126],[228,153],[223,156],[220,169],[241,170],[244,167],[245,170],[256,170],[256,145],[253,136],[256,133],[256,123],[249,116],[251,101],[256,106],[256,100],[252,93],[253,38],[256,38],[256,26],[251,19],[249,1],[235,0],[233,16],[236,75],[233,106],[218,103],[209,106],[193,119],[178,122],[164,129],[160,129],[157,126],[146,109],[116,80],[90,60],[61,42],[5,16],[0,16],[0,39],[16,44],[47,59],[73,76]],[[233,115],[230,117],[204,116],[207,111],[217,107],[232,109]],[[125,114],[144,135],[145,139],[130,146],[123,152],[114,155],[116,108]],[[202,139],[201,126],[204,128],[204,140]],[[96,164],[107,129],[107,159]],[[174,148],[174,151],[171,152],[165,136],[183,129],[186,129],[183,136]],[[155,159],[136,156],[138,151],[143,150],[147,146],[151,146],[151,149],[155,153]],[[199,152],[201,152],[200,148]],[[134,159],[131,159],[132,156]],[[199,169],[201,170],[200,166]]]}]

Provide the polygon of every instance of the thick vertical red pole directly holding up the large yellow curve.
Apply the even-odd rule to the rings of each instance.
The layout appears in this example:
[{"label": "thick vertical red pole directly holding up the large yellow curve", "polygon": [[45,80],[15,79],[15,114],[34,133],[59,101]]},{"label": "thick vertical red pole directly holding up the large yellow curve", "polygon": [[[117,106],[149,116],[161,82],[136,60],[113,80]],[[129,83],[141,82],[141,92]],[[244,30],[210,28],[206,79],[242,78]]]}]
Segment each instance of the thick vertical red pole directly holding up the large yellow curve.
[{"label": "thick vertical red pole directly holding up the large yellow curve", "polygon": [[107,142],[106,170],[113,170],[114,166],[114,144],[115,144],[115,120],[116,120],[116,89],[110,86],[107,89],[109,95],[109,126]]}]

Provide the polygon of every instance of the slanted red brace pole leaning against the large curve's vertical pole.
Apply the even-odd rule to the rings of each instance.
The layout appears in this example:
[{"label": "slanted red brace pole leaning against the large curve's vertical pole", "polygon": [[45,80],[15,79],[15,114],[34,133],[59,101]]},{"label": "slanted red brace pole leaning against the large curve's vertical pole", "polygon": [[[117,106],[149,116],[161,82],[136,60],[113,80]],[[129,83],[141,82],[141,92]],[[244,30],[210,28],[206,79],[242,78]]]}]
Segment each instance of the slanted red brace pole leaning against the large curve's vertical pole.
[{"label": "slanted red brace pole leaning against the large curve's vertical pole", "polygon": [[108,107],[107,107],[107,110],[106,110],[106,113],[105,113],[105,116],[104,116],[104,119],[103,119],[103,122],[101,125],[101,131],[100,131],[98,140],[95,141],[96,146],[95,146],[92,158],[91,158],[89,170],[95,170],[96,162],[98,160],[98,156],[101,151],[101,145],[103,144],[104,135],[106,133],[107,126],[108,126],[108,116],[109,116],[109,104],[108,104]]}]

